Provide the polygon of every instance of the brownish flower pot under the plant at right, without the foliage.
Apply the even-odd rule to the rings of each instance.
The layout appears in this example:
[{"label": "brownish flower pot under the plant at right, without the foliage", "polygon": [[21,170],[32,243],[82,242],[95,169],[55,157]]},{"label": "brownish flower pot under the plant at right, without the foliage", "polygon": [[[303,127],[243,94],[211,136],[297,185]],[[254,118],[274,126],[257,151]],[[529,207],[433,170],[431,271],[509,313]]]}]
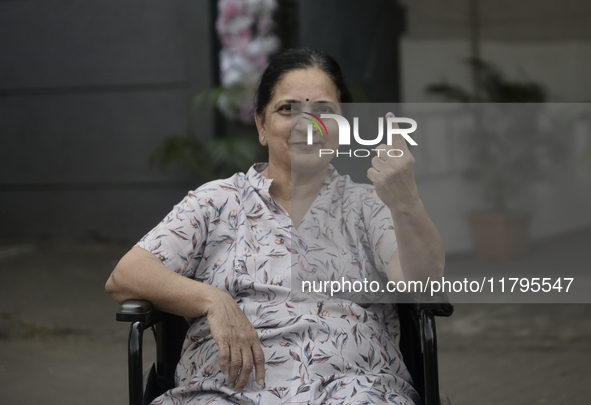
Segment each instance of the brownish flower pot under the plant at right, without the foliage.
[{"label": "brownish flower pot under the plant at right, without the foliage", "polygon": [[529,212],[478,212],[468,216],[481,259],[508,260],[527,253]]}]

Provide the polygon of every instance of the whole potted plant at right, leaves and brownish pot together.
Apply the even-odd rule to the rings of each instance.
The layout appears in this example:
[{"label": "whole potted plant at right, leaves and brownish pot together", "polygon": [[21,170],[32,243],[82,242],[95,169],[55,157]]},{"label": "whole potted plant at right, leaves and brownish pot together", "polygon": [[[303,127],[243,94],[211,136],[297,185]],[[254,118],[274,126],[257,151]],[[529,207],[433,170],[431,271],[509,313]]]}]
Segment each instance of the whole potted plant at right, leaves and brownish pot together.
[{"label": "whole potted plant at right, leaves and brownish pot together", "polygon": [[539,129],[539,103],[546,100],[540,84],[508,81],[495,66],[479,59],[470,63],[477,77],[475,92],[447,83],[426,90],[449,101],[473,103],[469,109],[474,130],[463,143],[469,154],[466,176],[481,186],[489,209],[471,213],[468,219],[478,256],[506,260],[526,253],[531,217],[512,203],[543,177],[546,162],[559,157],[563,147],[555,133]]}]

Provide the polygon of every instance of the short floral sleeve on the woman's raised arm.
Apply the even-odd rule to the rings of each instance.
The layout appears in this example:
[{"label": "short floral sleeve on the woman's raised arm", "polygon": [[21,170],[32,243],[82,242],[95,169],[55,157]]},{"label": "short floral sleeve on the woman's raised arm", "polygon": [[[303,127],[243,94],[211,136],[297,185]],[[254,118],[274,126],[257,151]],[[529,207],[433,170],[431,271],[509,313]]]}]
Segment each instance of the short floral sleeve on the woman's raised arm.
[{"label": "short floral sleeve on the woman's raised arm", "polygon": [[390,258],[398,249],[392,214],[373,189],[367,193],[364,205],[369,254],[373,257],[376,270],[386,275]]}]

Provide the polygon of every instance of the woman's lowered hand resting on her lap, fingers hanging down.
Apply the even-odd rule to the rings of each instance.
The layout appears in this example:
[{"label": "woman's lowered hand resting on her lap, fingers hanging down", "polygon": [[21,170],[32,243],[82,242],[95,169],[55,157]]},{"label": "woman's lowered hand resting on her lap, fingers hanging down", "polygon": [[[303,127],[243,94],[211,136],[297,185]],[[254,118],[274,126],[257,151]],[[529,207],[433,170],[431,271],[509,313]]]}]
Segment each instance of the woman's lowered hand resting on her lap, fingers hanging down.
[{"label": "woman's lowered hand resting on her lap, fingers hanging down", "polygon": [[265,384],[265,355],[259,336],[234,298],[218,290],[215,305],[207,311],[207,322],[218,345],[220,369],[228,376],[228,386],[238,392],[254,367],[257,384]]}]

